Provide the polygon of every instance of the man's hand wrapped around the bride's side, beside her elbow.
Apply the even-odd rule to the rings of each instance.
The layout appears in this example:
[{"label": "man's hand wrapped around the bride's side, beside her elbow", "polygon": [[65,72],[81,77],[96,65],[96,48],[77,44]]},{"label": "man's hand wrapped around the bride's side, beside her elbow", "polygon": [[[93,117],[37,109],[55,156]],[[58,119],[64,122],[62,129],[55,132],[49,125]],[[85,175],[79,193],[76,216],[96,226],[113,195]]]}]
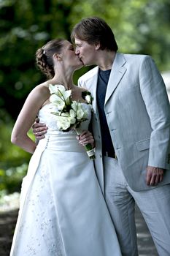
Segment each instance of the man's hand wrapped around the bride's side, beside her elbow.
[{"label": "man's hand wrapped around the bride's side, beside her elbow", "polygon": [[32,125],[33,133],[36,137],[36,140],[41,140],[45,138],[45,133],[47,132],[48,127],[46,124],[39,123],[39,118],[36,118],[35,123]]}]

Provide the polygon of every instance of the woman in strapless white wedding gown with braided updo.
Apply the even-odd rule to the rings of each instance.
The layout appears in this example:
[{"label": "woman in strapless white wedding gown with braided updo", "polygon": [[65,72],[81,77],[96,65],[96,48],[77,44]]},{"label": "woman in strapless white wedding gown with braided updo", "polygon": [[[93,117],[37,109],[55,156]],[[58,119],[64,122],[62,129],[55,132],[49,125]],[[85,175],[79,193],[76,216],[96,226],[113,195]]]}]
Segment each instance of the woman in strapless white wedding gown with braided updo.
[{"label": "woman in strapless white wedding gown with braided updo", "polygon": [[[36,64],[49,80],[28,95],[12,130],[12,143],[32,155],[23,178],[20,210],[10,256],[119,256],[120,246],[84,146],[94,146],[88,131],[91,108],[74,86],[72,75],[82,67],[72,44],[53,39],[36,51]],[[82,134],[58,129],[49,85],[72,90],[72,100],[88,112]],[[28,137],[36,116],[47,124],[38,145]]]}]

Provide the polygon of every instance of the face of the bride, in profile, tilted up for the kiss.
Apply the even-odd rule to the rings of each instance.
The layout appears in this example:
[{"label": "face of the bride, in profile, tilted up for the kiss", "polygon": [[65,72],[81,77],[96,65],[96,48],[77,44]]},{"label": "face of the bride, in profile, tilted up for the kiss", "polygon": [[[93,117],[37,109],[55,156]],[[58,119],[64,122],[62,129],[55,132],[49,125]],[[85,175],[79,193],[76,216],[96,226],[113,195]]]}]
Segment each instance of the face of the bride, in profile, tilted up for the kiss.
[{"label": "face of the bride, in profile, tilted up for the kiss", "polygon": [[82,61],[80,61],[80,58],[75,54],[72,43],[69,41],[66,41],[63,45],[61,58],[63,63],[69,67],[74,67],[75,70],[83,66]]}]

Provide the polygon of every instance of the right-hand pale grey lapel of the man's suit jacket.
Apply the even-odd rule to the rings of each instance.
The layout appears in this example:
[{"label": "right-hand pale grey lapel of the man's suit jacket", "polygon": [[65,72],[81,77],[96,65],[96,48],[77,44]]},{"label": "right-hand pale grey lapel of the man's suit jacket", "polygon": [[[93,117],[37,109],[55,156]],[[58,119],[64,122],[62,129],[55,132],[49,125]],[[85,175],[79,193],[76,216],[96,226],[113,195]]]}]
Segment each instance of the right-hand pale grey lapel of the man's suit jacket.
[{"label": "right-hand pale grey lapel of the man's suit jacket", "polygon": [[107,103],[109,97],[111,97],[112,93],[115,91],[116,87],[120,83],[120,80],[123,78],[123,75],[125,74],[126,68],[123,67],[125,62],[126,61],[124,59],[123,54],[116,53],[115,60],[112,65],[112,70],[109,76],[104,105]]}]

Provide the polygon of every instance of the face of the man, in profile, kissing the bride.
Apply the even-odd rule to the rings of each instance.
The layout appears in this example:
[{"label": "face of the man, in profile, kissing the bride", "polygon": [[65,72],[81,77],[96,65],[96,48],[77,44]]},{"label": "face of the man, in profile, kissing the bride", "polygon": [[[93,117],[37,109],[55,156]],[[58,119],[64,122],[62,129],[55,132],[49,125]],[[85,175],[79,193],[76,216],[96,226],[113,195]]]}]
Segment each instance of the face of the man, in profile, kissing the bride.
[{"label": "face of the man, in profile, kissing the bride", "polygon": [[74,38],[76,45],[75,53],[82,61],[84,66],[89,66],[95,64],[96,59],[96,46],[89,45],[88,42],[82,41],[77,37]]}]

